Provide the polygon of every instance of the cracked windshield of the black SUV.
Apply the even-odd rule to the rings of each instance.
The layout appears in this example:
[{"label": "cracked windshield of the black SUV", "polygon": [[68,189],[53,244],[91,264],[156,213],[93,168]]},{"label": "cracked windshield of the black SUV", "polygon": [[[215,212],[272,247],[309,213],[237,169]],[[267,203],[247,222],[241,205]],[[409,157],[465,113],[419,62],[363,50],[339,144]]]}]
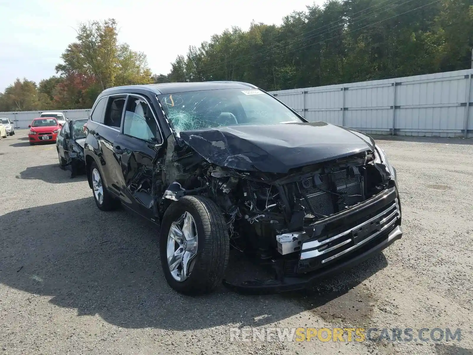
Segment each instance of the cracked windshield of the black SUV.
[{"label": "cracked windshield of the black SUV", "polygon": [[176,132],[203,128],[302,122],[261,90],[219,89],[158,95]]}]

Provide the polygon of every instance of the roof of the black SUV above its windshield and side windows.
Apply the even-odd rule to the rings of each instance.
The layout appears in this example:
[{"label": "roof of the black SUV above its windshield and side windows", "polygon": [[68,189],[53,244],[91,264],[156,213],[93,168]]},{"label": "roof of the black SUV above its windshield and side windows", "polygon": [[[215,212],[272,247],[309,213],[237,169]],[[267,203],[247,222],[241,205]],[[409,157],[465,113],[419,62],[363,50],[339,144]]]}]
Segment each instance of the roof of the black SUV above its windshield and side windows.
[{"label": "roof of the black SUV above its windshield and side windows", "polygon": [[114,91],[117,89],[146,89],[156,94],[174,94],[175,92],[217,90],[217,89],[256,89],[254,85],[239,81],[203,81],[203,82],[170,82],[149,85],[129,85],[117,86],[104,91]]}]

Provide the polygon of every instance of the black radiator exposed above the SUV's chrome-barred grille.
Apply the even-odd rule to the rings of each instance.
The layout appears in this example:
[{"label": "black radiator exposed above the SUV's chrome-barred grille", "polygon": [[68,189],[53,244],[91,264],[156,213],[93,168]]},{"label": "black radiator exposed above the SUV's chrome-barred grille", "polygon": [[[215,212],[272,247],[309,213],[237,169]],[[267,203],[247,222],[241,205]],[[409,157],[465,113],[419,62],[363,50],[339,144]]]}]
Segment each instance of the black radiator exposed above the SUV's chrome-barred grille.
[{"label": "black radiator exposed above the SUV's chrome-barred grille", "polygon": [[318,178],[321,182],[318,185],[313,177],[296,183],[307,213],[329,216],[363,199],[363,178],[359,174],[349,176],[347,170],[341,170]]}]

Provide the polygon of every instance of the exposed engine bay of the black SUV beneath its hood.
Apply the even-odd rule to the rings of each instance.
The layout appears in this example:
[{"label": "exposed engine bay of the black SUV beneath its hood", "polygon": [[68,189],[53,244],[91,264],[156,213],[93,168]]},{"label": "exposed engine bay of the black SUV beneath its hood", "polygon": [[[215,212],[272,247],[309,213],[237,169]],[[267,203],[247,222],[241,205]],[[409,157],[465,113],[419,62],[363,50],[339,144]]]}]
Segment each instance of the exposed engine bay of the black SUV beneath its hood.
[{"label": "exposed engine bay of the black SUV beneath its hood", "polygon": [[300,251],[303,240],[288,247],[278,237],[303,231],[390,186],[386,169],[369,150],[291,169],[288,174],[220,167],[188,150],[171,154],[165,171],[173,183],[163,200],[186,194],[209,197],[225,215],[231,245],[261,259]]}]

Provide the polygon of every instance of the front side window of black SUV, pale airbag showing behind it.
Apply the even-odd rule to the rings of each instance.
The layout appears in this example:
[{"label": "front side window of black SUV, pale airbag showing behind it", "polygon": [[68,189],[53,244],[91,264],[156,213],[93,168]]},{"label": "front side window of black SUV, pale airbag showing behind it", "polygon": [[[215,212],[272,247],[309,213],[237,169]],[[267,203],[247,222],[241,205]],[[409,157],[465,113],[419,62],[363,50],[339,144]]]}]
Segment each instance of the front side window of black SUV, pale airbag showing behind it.
[{"label": "front side window of black SUV, pale airbag showing behind it", "polygon": [[156,120],[151,112],[151,107],[145,100],[133,96],[128,98],[123,121],[123,134],[145,141],[159,137]]}]

